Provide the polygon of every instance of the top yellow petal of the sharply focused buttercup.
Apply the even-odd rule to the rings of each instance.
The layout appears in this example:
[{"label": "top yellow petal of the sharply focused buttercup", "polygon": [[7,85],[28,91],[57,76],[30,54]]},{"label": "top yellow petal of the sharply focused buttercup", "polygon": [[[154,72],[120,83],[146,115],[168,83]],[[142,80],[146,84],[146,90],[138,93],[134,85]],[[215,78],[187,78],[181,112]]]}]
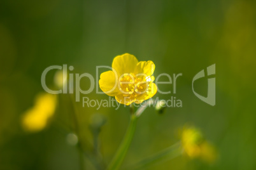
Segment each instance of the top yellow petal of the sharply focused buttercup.
[{"label": "top yellow petal of the sharply focused buttercup", "polygon": [[114,71],[117,71],[118,75],[125,73],[133,73],[138,60],[134,55],[125,53],[124,55],[118,55],[114,58],[112,63],[112,68]]}]

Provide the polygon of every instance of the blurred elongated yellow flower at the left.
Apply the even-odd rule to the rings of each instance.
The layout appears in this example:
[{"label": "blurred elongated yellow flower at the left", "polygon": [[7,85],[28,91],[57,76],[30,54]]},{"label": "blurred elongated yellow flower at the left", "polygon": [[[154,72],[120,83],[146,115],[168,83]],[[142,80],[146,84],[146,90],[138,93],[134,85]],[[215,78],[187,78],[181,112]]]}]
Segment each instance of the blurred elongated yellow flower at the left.
[{"label": "blurred elongated yellow flower at the left", "polygon": [[26,131],[41,131],[55,112],[57,96],[43,93],[36,97],[34,107],[29,108],[22,117],[22,127]]}]

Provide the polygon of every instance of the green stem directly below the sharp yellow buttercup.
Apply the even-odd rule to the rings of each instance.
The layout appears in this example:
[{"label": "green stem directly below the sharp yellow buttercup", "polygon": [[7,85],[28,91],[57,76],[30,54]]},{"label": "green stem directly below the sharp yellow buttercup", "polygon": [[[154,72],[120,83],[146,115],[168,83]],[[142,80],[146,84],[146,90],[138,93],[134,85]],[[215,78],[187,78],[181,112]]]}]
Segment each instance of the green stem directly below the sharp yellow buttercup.
[{"label": "green stem directly below the sharp yellow buttercup", "polygon": [[131,108],[131,110],[132,114],[129,127],[127,129],[127,132],[125,133],[124,139],[120,147],[117,150],[117,154],[115,154],[113,160],[111,160],[110,165],[108,166],[108,170],[118,170],[120,168],[127,153],[127,150],[131,144],[137,123],[137,117],[133,113],[133,108]]}]

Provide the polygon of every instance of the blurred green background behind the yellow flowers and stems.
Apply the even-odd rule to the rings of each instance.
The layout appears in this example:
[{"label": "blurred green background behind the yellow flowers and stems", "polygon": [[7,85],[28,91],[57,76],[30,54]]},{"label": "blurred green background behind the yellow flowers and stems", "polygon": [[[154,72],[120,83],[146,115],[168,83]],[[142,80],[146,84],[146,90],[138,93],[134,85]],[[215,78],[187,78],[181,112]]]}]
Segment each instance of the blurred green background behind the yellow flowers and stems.
[{"label": "blurred green background behind the yellow flowers and stems", "polygon": [[[123,53],[152,60],[155,75],[183,75],[177,92],[156,96],[182,100],[182,108],[158,115],[147,108],[138,121],[124,166],[169,147],[178,129],[194,124],[215,145],[215,164],[180,156],[148,169],[256,169],[255,64],[256,1],[68,1],[0,0],[0,169],[79,169],[78,150],[66,141],[72,132],[67,95],[59,95],[48,126],[27,133],[20,120],[43,91],[41,74],[50,65],[73,65],[71,73],[96,76],[96,66],[111,66]],[[199,100],[192,78],[216,63],[216,105]],[[101,72],[103,72],[102,70]],[[47,83],[53,86],[54,72]],[[83,89],[89,80],[81,81]],[[196,84],[206,94],[207,79]],[[171,85],[160,85],[171,90]],[[94,90],[91,99],[107,99]],[[156,97],[155,96],[155,97]],[[108,164],[129,123],[129,108],[87,108],[76,103],[83,139],[94,114],[106,117],[99,134]],[[94,169],[85,160],[87,169]]]}]

